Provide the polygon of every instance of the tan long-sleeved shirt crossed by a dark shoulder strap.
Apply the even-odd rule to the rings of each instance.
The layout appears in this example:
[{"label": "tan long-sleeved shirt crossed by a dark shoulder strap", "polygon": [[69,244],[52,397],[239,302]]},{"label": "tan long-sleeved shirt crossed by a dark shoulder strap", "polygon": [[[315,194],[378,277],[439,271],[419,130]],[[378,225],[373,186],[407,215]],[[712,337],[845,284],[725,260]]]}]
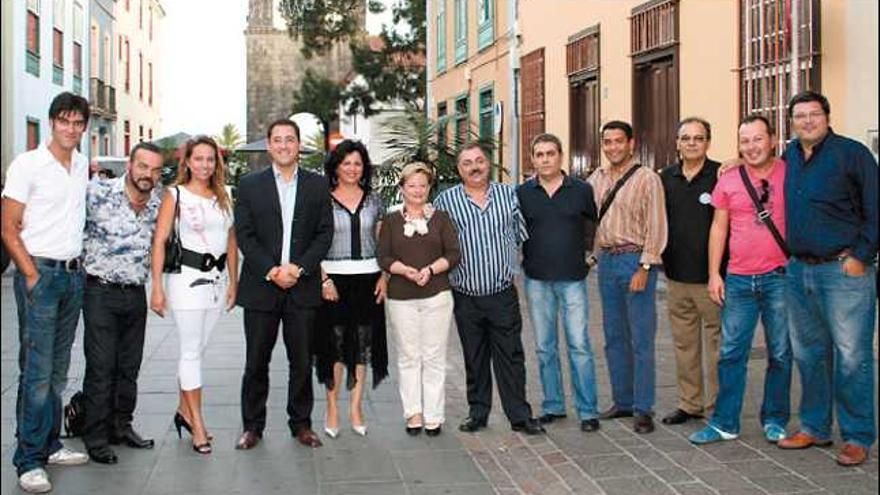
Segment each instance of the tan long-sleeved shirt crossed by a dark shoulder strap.
[{"label": "tan long-sleeved shirt crossed by a dark shoulder strap", "polygon": [[[653,170],[639,164],[639,170],[617,191],[611,208],[602,217],[596,230],[595,250],[634,244],[642,248],[640,263],[659,265],[666,248],[666,200],[663,182]],[[587,180],[593,186],[596,209],[614,187],[610,168],[604,165]],[[620,177],[626,173],[621,170]]]}]

